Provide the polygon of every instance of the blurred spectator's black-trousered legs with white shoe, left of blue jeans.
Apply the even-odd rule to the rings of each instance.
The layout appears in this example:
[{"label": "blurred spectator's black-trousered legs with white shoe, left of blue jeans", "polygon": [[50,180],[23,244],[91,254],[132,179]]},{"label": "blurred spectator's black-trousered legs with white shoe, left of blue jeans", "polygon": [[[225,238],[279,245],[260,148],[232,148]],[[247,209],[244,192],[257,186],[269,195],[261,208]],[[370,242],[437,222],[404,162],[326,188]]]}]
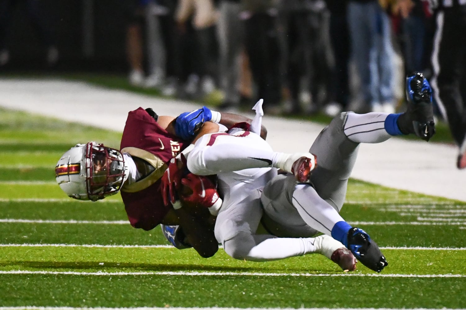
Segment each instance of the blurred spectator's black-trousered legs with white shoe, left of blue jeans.
[{"label": "blurred spectator's black-trousered legs with white shoe, left of blue jeans", "polygon": [[334,70],[330,84],[330,92],[335,94],[335,101],[329,102],[324,113],[335,116],[348,111],[349,105],[349,56],[350,41],[347,22],[347,1],[326,0],[330,12],[330,42],[334,57]]}]

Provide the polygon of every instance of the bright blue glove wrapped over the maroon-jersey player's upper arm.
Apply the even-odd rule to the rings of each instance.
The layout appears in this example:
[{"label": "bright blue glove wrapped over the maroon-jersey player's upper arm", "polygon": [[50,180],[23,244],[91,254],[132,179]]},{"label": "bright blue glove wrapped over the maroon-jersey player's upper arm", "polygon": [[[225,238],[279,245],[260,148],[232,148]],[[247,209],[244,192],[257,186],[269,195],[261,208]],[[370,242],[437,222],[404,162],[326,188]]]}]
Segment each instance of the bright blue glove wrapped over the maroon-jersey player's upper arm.
[{"label": "bright blue glove wrapped over the maroon-jersey player's upper arm", "polygon": [[212,112],[207,107],[185,112],[175,119],[175,133],[184,140],[191,140],[206,121],[212,119]]}]

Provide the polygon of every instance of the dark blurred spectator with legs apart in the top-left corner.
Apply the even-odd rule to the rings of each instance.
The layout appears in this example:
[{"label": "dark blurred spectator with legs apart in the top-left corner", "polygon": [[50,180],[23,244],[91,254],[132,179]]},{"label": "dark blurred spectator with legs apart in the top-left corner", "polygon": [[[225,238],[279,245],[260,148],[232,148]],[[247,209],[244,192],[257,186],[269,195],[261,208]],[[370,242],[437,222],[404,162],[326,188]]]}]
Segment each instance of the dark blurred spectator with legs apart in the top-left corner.
[{"label": "dark blurred spectator with legs apart in the top-left corner", "polygon": [[39,0],[0,0],[0,67],[10,60],[8,49],[8,32],[15,8],[25,11],[32,22],[33,30],[46,48],[46,61],[54,66],[59,57],[53,28],[48,24],[50,14],[46,13]]}]

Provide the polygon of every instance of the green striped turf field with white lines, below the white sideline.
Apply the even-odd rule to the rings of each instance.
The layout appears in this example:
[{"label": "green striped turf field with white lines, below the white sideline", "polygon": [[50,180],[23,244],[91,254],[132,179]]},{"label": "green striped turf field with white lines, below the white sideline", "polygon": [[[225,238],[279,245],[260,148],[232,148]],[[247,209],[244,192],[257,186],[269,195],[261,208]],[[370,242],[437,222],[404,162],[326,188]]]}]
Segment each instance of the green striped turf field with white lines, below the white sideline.
[{"label": "green striped turf field with white lines, below the white sideline", "polygon": [[383,248],[381,274],[362,264],[345,274],[319,255],[204,259],[159,228],[132,228],[118,195],[78,202],[56,185],[71,146],[120,137],[0,109],[0,310],[466,308],[465,202],[352,180],[342,214]]}]

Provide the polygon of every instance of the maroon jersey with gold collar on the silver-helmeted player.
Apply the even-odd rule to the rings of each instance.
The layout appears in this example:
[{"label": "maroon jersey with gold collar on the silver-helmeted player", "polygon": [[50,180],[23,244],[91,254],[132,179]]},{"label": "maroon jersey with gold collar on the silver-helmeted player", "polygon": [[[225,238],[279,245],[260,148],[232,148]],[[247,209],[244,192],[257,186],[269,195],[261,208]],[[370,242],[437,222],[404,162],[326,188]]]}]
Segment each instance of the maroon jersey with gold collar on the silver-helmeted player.
[{"label": "maroon jersey with gold collar on the silver-helmeted player", "polygon": [[124,184],[121,196],[130,223],[135,228],[150,230],[161,223],[171,204],[164,205],[160,177],[176,156],[189,143],[169,134],[143,108],[131,111],[123,129],[122,153],[139,157],[154,166],[155,171],[132,184]]}]

